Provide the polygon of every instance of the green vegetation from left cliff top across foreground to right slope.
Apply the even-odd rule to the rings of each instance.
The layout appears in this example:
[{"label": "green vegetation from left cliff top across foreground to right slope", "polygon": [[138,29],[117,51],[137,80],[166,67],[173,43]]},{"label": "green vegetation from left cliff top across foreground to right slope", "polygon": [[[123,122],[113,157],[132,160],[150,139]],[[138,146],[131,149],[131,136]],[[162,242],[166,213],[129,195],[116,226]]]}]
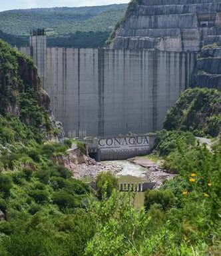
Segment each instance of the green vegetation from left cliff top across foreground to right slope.
[{"label": "green vegetation from left cliff top across foreground to right slope", "polygon": [[207,149],[189,131],[161,131],[157,150],[178,175],[135,209],[110,173],[94,193],[57,164],[71,141],[49,142],[58,131],[37,70],[3,42],[0,86],[1,256],[220,255],[220,141]]}]

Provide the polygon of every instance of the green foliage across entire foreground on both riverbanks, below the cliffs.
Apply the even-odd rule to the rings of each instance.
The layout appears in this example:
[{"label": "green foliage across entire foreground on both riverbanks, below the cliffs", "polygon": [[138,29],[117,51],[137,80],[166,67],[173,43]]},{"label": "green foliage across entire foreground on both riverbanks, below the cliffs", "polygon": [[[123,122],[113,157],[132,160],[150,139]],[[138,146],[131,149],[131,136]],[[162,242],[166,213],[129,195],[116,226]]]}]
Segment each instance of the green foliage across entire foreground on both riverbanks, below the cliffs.
[{"label": "green foliage across entire foreground on both riverbanks, below the cliffs", "polygon": [[[218,255],[220,149],[174,149],[166,162],[179,175],[147,191],[146,209],[138,210],[134,194],[116,191],[110,173],[98,179],[102,200],[91,197],[87,185],[50,160],[61,145],[42,145],[38,157],[31,153],[36,169],[0,174],[0,209],[7,217],[0,222],[0,255]],[[180,157],[171,159],[175,151]]]}]

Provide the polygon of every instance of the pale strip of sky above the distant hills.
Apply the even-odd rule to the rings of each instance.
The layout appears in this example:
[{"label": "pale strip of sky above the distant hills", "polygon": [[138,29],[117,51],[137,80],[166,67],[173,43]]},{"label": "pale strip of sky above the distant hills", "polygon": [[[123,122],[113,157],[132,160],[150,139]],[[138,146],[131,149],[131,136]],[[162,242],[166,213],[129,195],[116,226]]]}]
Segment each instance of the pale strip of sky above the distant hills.
[{"label": "pale strip of sky above the distant hills", "polygon": [[129,0],[0,0],[0,11],[43,7],[79,7],[128,3]]}]

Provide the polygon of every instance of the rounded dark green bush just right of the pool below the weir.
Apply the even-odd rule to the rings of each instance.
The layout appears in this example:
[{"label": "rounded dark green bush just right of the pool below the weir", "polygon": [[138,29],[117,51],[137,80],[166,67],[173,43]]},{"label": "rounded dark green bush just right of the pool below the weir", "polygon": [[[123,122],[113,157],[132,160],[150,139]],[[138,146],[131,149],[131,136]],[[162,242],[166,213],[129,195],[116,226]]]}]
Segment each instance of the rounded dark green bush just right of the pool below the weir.
[{"label": "rounded dark green bush just right of the pool below the weir", "polygon": [[144,207],[148,210],[155,203],[166,211],[175,201],[174,194],[170,190],[147,190],[144,195]]}]

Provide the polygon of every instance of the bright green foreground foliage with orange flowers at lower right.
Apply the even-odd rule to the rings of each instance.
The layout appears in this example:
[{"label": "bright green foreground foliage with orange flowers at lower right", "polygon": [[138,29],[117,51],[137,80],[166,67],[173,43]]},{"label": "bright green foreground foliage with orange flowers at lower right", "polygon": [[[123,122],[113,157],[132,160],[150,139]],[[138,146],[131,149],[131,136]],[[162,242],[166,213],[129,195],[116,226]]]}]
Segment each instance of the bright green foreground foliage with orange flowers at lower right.
[{"label": "bright green foreground foliage with orange flowers at lower right", "polygon": [[219,255],[220,153],[200,146],[180,151],[182,163],[174,160],[180,175],[146,193],[146,211],[132,207],[132,194],[95,202],[97,225],[86,255]]}]

